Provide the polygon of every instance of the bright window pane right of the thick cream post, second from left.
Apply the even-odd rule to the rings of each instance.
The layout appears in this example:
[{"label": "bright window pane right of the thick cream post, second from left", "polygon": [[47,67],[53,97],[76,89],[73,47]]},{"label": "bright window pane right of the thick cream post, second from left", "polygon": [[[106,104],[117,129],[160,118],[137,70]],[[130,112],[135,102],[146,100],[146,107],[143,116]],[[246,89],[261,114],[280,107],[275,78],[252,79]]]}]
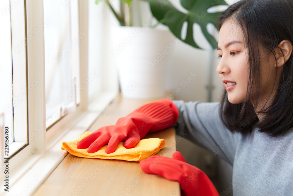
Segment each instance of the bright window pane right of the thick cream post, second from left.
[{"label": "bright window pane right of the thick cream post, second from left", "polygon": [[73,77],[77,74],[72,50],[78,43],[71,42],[70,1],[44,0],[44,20],[47,21],[44,31],[48,119],[53,115],[58,117],[62,106],[73,103]]}]

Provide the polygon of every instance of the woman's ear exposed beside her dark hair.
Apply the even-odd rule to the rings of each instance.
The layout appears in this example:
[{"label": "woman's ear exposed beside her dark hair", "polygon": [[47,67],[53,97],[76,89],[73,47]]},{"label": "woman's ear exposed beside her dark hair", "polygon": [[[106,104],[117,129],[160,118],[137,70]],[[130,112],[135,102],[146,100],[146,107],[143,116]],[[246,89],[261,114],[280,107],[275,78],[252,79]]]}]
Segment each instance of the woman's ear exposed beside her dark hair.
[{"label": "woman's ear exposed beside her dark hair", "polygon": [[275,50],[277,66],[281,67],[287,62],[292,54],[292,44],[289,40],[283,40],[279,43],[278,48]]}]

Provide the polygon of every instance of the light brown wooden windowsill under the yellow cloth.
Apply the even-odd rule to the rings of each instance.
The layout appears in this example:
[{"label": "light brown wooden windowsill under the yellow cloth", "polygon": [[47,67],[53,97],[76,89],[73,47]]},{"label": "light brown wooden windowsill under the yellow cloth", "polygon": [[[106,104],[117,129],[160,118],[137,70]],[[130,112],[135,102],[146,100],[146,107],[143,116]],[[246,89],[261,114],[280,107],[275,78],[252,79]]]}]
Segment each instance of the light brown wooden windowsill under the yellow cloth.
[{"label": "light brown wooden windowsill under the yellow cloth", "polygon": [[[115,102],[115,100],[117,102]],[[132,100],[119,95],[109,113],[101,116],[88,131],[113,125],[137,107],[155,100]],[[111,106],[111,104],[110,104]],[[168,128],[147,134],[145,138],[162,138],[166,146],[156,155],[172,157],[176,151],[175,130]],[[61,146],[60,146],[61,147]],[[80,158],[68,154],[35,192],[47,195],[180,195],[179,183],[158,175],[144,173],[139,162]]]}]

